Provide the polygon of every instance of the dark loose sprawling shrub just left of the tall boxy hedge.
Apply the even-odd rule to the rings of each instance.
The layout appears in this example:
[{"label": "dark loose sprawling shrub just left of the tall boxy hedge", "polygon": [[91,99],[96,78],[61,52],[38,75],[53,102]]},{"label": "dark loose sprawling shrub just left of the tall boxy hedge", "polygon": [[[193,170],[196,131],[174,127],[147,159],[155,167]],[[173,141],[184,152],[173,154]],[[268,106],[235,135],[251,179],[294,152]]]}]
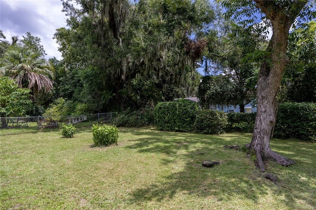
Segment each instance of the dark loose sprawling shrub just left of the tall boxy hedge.
[{"label": "dark loose sprawling shrub just left of the tall boxy hedge", "polygon": [[143,127],[154,125],[154,109],[145,107],[137,111],[120,112],[112,122],[117,127]]}]

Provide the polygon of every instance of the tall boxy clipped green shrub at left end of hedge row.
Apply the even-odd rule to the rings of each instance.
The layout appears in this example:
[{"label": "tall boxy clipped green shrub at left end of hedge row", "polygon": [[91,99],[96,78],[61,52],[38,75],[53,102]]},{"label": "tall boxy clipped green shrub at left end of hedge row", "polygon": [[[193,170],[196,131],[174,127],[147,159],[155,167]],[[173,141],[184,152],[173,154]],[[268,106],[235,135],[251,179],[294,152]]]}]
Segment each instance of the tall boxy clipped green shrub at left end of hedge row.
[{"label": "tall boxy clipped green shrub at left end of hedge row", "polygon": [[155,125],[163,131],[192,132],[197,110],[197,103],[184,99],[159,103],[154,109]]}]

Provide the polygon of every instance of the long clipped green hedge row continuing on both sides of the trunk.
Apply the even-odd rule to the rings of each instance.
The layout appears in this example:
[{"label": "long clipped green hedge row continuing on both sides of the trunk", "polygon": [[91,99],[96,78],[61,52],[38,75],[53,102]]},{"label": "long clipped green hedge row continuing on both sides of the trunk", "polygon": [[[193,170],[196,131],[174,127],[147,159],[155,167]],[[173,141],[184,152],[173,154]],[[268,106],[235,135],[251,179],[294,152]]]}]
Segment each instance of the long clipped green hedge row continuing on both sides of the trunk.
[{"label": "long clipped green hedge row continuing on both sides of the trunk", "polygon": [[[154,117],[157,128],[164,131],[194,131],[201,134],[219,134],[224,131],[252,133],[256,113],[226,114],[197,110],[197,105],[193,102],[178,101],[159,103],[155,107]],[[316,104],[280,104],[274,137],[316,140]]]}]

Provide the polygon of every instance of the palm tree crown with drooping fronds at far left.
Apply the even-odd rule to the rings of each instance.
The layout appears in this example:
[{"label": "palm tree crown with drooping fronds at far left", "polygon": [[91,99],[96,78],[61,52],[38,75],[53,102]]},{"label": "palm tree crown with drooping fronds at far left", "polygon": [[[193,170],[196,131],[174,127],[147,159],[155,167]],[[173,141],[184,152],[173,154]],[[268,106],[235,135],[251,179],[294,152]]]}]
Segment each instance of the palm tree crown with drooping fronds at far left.
[{"label": "palm tree crown with drooping fronds at far left", "polygon": [[51,92],[53,70],[49,62],[40,58],[39,53],[20,47],[6,51],[0,59],[0,76],[15,79],[21,88],[29,88],[35,94],[41,90]]}]

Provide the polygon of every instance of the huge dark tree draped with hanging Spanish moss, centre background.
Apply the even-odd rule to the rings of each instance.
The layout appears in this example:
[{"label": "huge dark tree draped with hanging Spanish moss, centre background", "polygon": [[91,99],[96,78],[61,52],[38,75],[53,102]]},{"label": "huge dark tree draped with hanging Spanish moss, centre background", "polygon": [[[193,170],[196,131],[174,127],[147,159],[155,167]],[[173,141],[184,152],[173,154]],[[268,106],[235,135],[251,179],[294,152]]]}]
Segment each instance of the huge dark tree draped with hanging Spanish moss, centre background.
[{"label": "huge dark tree draped with hanging Spanish moss, centre background", "polygon": [[132,83],[140,77],[155,85],[161,101],[183,89],[193,93],[187,81],[195,75],[197,56],[192,55],[198,53],[186,45],[195,29],[212,20],[208,1],[79,3],[82,8],[76,9],[64,1],[69,29],[58,29],[55,38],[67,69],[80,78],[78,93],[91,99],[88,103],[99,110],[124,109],[135,99]]}]

